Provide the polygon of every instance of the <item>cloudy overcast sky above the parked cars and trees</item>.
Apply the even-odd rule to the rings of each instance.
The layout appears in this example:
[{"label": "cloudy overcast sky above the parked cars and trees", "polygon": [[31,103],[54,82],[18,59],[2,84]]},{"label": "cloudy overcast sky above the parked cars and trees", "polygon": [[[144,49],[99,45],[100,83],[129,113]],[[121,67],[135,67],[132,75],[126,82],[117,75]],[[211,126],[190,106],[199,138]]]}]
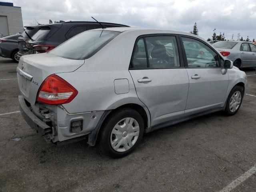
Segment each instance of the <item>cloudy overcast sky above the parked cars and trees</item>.
[{"label": "cloudy overcast sky above the parked cars and trees", "polygon": [[21,6],[23,24],[34,18],[41,24],[52,21],[121,23],[135,27],[189,32],[197,23],[199,36],[224,32],[226,38],[256,39],[256,0],[12,0]]}]

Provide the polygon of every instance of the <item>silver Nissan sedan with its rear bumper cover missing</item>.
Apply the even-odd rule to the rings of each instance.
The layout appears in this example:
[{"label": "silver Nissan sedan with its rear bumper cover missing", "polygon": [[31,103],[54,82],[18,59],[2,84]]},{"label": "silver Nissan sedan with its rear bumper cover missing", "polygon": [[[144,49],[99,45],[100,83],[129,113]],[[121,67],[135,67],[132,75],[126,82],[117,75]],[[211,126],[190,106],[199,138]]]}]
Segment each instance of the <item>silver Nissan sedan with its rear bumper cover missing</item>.
[{"label": "silver Nissan sedan with its rear bumper cover missing", "polygon": [[97,141],[115,158],[144,133],[216,111],[234,115],[247,87],[246,74],[198,36],[126,27],[22,56],[17,73],[20,110],[34,130],[56,144]]}]

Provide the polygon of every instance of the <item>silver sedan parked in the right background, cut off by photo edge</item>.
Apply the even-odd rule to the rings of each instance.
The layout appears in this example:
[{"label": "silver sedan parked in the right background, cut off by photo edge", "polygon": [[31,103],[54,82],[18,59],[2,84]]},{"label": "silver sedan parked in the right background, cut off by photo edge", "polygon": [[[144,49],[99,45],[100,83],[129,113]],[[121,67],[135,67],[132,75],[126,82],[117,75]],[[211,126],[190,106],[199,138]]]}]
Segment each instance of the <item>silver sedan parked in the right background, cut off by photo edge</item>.
[{"label": "silver sedan parked in the right background, cut off by photo edge", "polygon": [[212,44],[225,59],[238,68],[256,67],[256,46],[244,41],[219,41]]}]

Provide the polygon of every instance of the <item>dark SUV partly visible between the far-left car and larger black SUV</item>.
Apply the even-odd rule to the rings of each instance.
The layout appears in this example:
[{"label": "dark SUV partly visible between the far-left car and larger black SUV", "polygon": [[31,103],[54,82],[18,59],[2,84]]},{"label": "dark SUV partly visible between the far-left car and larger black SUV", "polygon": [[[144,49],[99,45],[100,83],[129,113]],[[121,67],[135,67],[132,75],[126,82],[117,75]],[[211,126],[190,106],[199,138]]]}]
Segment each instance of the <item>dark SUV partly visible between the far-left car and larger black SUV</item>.
[{"label": "dark SUV partly visible between the far-left car and larger black SUV", "polygon": [[20,60],[21,56],[28,54],[28,40],[38,31],[38,28],[39,26],[24,26],[24,32],[18,38],[18,60]]}]

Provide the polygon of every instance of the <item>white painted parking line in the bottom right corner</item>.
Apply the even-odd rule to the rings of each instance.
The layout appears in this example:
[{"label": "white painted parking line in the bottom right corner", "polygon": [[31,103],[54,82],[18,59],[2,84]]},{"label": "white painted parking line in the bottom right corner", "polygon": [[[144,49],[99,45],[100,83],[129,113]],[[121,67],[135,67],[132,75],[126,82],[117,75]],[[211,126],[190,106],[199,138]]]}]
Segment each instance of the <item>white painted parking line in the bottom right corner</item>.
[{"label": "white painted parking line in the bottom right corner", "polygon": [[250,170],[242,174],[240,177],[238,177],[236,180],[232,181],[228,186],[220,190],[219,192],[230,192],[234,188],[236,188],[238,185],[240,185],[242,182],[244,182],[246,179],[248,179],[250,176],[256,173],[256,166],[252,167]]}]

